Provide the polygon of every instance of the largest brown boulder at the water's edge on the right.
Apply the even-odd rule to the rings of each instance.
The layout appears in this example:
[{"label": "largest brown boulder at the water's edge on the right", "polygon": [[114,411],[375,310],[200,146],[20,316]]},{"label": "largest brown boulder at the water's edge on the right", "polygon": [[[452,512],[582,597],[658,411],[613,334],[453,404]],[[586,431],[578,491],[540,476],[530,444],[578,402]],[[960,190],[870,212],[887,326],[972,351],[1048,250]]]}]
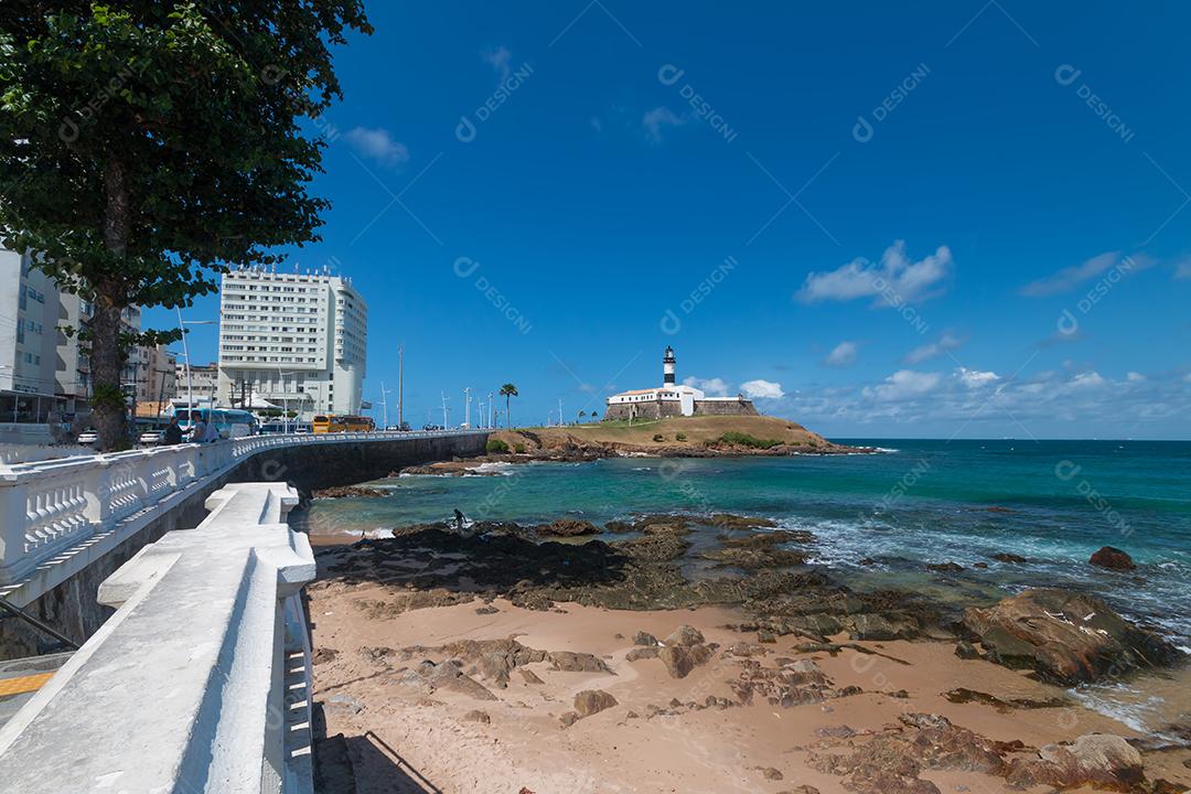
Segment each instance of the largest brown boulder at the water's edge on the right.
[{"label": "largest brown boulder at the water's edge on the right", "polygon": [[1100,599],[1067,590],[1025,590],[989,608],[969,607],[964,624],[991,661],[1033,668],[1064,684],[1168,664],[1179,656],[1168,642],[1133,625]]}]

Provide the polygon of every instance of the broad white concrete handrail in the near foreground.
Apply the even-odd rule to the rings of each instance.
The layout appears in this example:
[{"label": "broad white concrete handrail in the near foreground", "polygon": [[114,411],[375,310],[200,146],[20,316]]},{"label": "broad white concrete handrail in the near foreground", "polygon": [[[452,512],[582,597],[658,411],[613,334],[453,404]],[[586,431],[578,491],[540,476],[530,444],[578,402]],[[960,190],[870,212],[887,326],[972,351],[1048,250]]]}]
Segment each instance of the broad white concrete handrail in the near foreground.
[{"label": "broad white concrete handrail in the near foreground", "polygon": [[[312,790],[298,502],[231,484],[100,587],[116,614],[0,729],[0,793]],[[63,763],[63,742],[89,748]]]}]

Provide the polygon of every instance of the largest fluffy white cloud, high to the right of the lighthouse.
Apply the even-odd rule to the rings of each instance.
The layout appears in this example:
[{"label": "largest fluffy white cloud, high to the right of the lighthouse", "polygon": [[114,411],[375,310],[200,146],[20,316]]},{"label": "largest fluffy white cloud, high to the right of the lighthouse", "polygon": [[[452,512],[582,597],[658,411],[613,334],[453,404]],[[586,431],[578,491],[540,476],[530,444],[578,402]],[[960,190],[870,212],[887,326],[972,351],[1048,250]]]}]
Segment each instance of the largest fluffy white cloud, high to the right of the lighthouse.
[{"label": "largest fluffy white cloud, high to the right of the lighthouse", "polygon": [[952,264],[952,251],[946,245],[911,262],[905,255],[905,240],[894,240],[885,249],[880,264],[860,257],[835,270],[810,273],[794,296],[804,304],[856,298],[878,298],[878,305],[885,306],[919,302],[939,293]]}]

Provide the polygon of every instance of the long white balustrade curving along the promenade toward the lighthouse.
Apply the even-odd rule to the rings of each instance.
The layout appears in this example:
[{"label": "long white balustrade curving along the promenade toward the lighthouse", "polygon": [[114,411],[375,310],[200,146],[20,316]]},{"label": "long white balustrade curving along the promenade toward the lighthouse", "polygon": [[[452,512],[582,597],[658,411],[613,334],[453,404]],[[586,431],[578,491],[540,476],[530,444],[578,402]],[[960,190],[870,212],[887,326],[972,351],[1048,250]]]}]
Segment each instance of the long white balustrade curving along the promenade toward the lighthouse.
[{"label": "long white balustrade curving along the promenade toward the lighthouse", "polygon": [[[484,434],[425,431],[249,436],[111,455],[0,464],[0,595],[23,606],[247,458],[292,446]],[[132,519],[136,521],[132,521]],[[136,526],[133,526],[136,524]],[[49,563],[69,558],[64,569]]]}]

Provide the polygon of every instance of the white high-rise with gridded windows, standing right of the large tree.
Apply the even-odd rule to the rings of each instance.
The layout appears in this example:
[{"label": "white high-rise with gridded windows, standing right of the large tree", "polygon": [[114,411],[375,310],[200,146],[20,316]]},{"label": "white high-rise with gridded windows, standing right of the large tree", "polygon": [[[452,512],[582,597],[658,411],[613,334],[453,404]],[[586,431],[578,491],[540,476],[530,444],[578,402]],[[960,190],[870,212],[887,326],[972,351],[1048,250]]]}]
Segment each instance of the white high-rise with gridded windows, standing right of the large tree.
[{"label": "white high-rise with gridded windows, standing right of the large tree", "polygon": [[244,268],[220,293],[220,404],[360,412],[368,307],[349,279]]}]

